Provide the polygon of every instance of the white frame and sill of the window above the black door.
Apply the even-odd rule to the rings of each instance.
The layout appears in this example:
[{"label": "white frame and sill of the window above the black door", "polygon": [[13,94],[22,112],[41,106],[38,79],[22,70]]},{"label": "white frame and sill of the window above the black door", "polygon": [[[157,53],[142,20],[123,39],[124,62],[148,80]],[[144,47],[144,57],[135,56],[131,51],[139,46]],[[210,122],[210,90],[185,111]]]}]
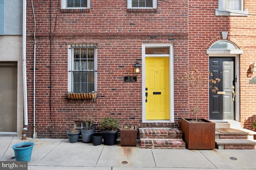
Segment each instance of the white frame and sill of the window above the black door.
[{"label": "white frame and sill of the window above the black door", "polygon": [[248,9],[244,9],[244,0],[240,0],[240,10],[223,10],[220,9],[221,1],[218,2],[218,9],[215,10],[216,16],[248,16]]}]

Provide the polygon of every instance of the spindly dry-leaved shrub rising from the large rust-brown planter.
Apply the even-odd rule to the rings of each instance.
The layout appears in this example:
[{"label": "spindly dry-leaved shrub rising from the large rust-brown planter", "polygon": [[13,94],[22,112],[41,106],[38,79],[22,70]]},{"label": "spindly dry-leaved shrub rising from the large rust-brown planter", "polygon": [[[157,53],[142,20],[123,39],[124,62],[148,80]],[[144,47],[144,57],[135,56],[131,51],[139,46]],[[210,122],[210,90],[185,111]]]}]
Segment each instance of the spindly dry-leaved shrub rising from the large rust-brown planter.
[{"label": "spindly dry-leaved shrub rising from the large rust-brown planter", "polygon": [[[192,67],[192,71],[185,73],[185,75],[181,78],[178,78],[178,81],[187,80],[188,81],[188,90],[192,90],[195,94],[196,98],[196,106],[193,108],[193,112],[196,112],[196,121],[198,115],[198,98],[199,98],[199,91],[203,91],[204,87],[207,87],[215,93],[218,88],[215,86],[216,83],[220,82],[219,78],[213,79],[213,74],[210,71],[207,71],[206,74],[209,75],[209,78],[206,78],[196,69],[194,66]],[[202,96],[205,95],[204,92],[201,94]]]}]

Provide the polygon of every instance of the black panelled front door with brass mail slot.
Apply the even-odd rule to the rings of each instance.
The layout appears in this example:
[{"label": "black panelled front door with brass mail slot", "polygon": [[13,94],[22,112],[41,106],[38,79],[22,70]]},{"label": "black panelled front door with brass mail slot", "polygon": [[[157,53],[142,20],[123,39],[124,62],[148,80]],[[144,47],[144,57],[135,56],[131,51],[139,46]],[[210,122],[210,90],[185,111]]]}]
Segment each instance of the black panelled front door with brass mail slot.
[{"label": "black panelled front door with brass mail slot", "polygon": [[209,93],[209,117],[211,120],[234,120],[235,75],[234,57],[210,57],[209,70],[213,78],[220,78],[218,91]]}]

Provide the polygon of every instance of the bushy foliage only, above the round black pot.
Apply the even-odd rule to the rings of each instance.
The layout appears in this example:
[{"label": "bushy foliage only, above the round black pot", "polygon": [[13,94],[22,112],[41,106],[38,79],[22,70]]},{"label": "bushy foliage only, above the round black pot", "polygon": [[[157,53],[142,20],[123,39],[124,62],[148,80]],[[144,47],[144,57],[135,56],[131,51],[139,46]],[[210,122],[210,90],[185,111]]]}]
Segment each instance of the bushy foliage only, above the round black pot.
[{"label": "bushy foliage only, above the round black pot", "polygon": [[100,127],[103,131],[114,132],[119,128],[118,119],[115,119],[112,116],[104,117],[100,119]]}]

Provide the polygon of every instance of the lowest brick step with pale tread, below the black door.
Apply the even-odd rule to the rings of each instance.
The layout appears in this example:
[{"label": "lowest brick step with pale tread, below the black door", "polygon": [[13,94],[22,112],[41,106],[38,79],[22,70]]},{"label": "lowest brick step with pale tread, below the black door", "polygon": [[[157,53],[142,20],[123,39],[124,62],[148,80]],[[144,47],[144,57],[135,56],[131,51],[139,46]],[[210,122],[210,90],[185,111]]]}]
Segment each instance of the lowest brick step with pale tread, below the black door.
[{"label": "lowest brick step with pale tread, below the black door", "polygon": [[247,139],[215,139],[218,149],[255,149],[256,142]]}]

